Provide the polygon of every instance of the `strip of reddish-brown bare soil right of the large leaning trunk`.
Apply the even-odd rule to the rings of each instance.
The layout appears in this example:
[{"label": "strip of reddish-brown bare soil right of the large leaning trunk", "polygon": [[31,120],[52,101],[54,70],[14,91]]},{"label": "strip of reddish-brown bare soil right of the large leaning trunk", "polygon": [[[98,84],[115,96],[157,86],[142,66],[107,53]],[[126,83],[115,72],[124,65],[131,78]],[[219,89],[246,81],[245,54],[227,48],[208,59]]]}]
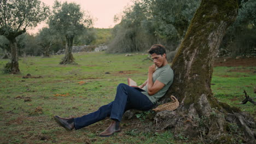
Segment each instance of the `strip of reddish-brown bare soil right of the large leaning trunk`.
[{"label": "strip of reddish-brown bare soil right of the large leaning trunk", "polygon": [[256,67],[256,57],[251,58],[217,58],[214,62],[214,67],[238,67],[251,66]]}]

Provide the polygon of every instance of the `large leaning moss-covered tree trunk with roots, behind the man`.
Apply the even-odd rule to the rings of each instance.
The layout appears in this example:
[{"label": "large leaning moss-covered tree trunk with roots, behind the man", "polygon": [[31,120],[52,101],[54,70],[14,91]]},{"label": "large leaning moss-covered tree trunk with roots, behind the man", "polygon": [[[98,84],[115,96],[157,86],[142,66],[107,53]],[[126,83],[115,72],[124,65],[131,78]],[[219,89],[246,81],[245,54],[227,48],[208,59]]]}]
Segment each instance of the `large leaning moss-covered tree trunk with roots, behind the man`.
[{"label": "large leaning moss-covered tree trunk with roots, behind the man", "polygon": [[156,115],[156,120],[164,122],[161,128],[172,128],[187,137],[228,142],[227,125],[237,123],[245,131],[245,140],[255,142],[254,121],[246,122],[245,113],[220,103],[211,91],[214,58],[226,29],[236,19],[237,8],[236,0],[202,0],[173,59],[173,84],[162,98],[165,103],[174,95],[180,106],[166,118]]}]

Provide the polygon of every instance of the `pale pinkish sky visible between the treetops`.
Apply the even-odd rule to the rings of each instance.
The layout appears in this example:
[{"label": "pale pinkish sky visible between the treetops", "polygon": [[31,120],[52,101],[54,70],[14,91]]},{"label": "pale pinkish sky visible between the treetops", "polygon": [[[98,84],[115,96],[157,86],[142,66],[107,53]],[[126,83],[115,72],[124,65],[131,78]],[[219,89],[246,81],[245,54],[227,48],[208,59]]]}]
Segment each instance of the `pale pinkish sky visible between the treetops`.
[{"label": "pale pinkish sky visible between the treetops", "polygon": [[[40,0],[50,8],[54,4],[54,0]],[[132,5],[131,0],[59,0],[61,2],[74,2],[81,5],[81,9],[89,11],[90,15],[96,19],[95,28],[112,28],[114,23],[114,15],[120,14],[127,7]],[[45,22],[40,23],[37,27],[28,29],[28,33],[37,33],[39,29],[47,26]]]}]

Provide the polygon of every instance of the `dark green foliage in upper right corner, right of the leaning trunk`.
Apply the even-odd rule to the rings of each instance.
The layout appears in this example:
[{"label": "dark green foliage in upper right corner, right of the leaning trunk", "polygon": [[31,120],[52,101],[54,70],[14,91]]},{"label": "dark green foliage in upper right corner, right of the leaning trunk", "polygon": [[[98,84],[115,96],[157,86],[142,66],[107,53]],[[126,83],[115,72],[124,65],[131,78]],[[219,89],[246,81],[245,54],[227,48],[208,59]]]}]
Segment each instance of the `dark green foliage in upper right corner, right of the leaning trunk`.
[{"label": "dark green foliage in upper right corner, right of the leaning trunk", "polygon": [[256,1],[241,1],[236,21],[220,45],[220,56],[256,56]]}]

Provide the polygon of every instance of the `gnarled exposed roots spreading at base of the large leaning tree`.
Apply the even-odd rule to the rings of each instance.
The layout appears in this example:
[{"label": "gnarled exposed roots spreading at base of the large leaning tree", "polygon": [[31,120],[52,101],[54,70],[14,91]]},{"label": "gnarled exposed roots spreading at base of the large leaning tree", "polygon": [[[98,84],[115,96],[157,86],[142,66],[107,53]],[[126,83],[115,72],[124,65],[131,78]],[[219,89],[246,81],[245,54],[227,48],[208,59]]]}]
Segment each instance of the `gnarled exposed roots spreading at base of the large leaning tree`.
[{"label": "gnarled exposed roots spreading at base of the large leaning tree", "polygon": [[[212,109],[210,115],[189,115],[191,110],[161,111],[154,118],[158,130],[171,129],[174,136],[203,143],[255,143],[255,123],[246,113]],[[223,110],[226,111],[226,110]],[[192,116],[192,117],[190,117]]]}]

